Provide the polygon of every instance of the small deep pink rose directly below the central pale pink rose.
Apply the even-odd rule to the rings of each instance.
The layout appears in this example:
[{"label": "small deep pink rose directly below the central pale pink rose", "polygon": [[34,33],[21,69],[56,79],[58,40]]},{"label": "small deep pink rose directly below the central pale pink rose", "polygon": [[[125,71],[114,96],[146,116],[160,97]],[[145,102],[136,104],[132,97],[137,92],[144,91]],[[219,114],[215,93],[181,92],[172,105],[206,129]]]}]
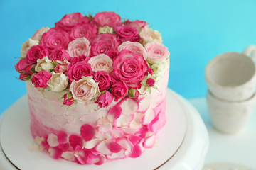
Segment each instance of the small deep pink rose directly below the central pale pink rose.
[{"label": "small deep pink rose directly below the central pale pink rose", "polygon": [[110,74],[107,74],[107,72],[97,71],[93,79],[99,83],[98,86],[100,91],[104,91],[110,88],[111,77]]}]

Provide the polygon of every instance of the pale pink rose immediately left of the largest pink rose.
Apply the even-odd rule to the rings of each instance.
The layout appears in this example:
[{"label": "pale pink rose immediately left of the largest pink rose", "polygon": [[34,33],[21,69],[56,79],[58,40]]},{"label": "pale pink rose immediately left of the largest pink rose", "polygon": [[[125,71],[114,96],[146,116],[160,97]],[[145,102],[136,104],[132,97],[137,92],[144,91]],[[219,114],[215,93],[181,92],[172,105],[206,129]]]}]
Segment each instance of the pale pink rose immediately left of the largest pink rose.
[{"label": "pale pink rose immediately left of the largest pink rose", "polygon": [[110,57],[108,57],[105,54],[100,54],[95,57],[91,57],[88,63],[91,64],[93,72],[97,72],[97,71],[104,71],[107,73],[112,72],[113,62],[110,59]]}]

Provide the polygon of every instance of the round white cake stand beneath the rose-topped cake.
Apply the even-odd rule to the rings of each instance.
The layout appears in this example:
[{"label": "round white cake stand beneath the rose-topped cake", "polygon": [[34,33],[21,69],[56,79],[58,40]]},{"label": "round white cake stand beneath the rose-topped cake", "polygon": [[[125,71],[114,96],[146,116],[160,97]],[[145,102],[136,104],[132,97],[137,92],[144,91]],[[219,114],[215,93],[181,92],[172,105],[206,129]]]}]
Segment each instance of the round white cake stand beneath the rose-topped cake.
[{"label": "round white cake stand beneath the rose-topped cake", "polygon": [[29,111],[26,96],[5,113],[0,126],[0,169],[166,169],[199,170],[208,150],[208,133],[200,115],[190,103],[168,90],[167,123],[157,144],[137,159],[106,162],[101,166],[81,166],[63,159],[58,161],[46,152],[30,152]]}]

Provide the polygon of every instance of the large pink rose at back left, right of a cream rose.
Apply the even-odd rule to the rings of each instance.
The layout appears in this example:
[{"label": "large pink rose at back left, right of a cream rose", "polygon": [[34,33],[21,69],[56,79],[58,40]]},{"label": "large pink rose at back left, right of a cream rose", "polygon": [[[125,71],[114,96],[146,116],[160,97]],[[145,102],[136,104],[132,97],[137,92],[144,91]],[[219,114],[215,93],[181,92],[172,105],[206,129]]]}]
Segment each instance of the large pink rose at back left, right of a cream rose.
[{"label": "large pink rose at back left, right of a cream rose", "polygon": [[41,38],[41,44],[46,45],[49,51],[57,47],[63,47],[66,50],[69,41],[68,33],[60,28],[50,28],[48,32],[43,33]]}]

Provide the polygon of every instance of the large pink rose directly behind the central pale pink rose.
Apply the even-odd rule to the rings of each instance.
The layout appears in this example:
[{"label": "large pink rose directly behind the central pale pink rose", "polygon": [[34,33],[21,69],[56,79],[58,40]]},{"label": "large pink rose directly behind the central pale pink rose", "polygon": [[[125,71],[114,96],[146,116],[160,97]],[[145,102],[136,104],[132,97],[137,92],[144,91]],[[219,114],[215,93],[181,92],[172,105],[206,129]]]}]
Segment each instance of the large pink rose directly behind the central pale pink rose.
[{"label": "large pink rose directly behind the central pale pink rose", "polygon": [[120,45],[119,40],[110,33],[102,33],[92,39],[90,56],[96,56],[100,54],[107,55],[112,50],[117,50]]}]

